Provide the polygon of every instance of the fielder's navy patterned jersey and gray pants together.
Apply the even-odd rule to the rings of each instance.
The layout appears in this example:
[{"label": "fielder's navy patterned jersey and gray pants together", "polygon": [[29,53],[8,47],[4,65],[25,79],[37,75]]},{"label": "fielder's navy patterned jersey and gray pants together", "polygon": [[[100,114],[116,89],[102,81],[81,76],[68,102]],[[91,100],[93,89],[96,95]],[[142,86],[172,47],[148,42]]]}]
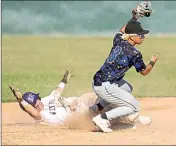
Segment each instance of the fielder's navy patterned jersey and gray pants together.
[{"label": "fielder's navy patterned jersey and gray pants together", "polygon": [[118,106],[106,112],[109,120],[139,111],[138,101],[126,90],[130,84],[122,89],[120,86],[123,85],[119,83],[132,66],[137,72],[146,68],[141,52],[121,36],[121,32],[115,35],[109,56],[93,77],[93,89],[97,96],[114,107]]}]

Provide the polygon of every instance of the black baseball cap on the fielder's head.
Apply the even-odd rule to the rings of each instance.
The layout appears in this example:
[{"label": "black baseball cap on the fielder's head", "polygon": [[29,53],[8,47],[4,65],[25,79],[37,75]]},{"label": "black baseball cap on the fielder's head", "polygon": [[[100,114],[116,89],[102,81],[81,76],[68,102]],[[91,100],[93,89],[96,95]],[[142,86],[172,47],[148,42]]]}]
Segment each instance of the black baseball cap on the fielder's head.
[{"label": "black baseball cap on the fielder's head", "polygon": [[149,30],[145,30],[141,27],[141,23],[140,22],[129,22],[126,27],[125,27],[125,33],[127,34],[148,34]]}]

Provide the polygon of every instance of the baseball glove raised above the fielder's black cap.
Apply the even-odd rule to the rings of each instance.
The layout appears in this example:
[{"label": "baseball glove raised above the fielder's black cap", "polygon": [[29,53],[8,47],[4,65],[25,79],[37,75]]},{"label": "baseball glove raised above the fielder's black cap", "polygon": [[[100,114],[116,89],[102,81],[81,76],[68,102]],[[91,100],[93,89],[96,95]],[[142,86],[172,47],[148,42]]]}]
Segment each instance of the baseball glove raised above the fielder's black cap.
[{"label": "baseball glove raised above the fielder's black cap", "polygon": [[135,9],[132,10],[132,15],[136,19],[139,17],[150,17],[153,10],[150,2],[141,2]]}]

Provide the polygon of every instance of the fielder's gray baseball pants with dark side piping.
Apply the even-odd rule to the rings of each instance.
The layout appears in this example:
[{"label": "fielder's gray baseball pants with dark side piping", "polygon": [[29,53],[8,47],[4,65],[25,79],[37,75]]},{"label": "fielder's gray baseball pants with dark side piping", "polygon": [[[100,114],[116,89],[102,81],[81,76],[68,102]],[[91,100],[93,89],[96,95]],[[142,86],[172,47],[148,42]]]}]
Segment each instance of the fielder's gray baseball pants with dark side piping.
[{"label": "fielder's gray baseball pants with dark side piping", "polygon": [[102,107],[112,107],[112,110],[105,112],[108,120],[128,116],[139,111],[138,101],[130,94],[133,88],[123,79],[117,84],[104,82],[101,86],[93,85],[93,89],[100,98]]}]

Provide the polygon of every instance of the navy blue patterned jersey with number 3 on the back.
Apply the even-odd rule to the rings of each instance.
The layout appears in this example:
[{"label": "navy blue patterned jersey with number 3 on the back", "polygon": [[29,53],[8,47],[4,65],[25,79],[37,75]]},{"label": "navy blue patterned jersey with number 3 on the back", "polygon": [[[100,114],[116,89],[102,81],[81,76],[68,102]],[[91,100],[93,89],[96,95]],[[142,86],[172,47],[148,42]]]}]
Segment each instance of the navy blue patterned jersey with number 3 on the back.
[{"label": "navy blue patterned jersey with number 3 on the back", "polygon": [[136,68],[137,72],[146,68],[141,52],[128,41],[123,40],[121,35],[122,33],[115,35],[109,56],[93,78],[95,83],[101,84],[106,81],[116,83],[132,66]]}]

